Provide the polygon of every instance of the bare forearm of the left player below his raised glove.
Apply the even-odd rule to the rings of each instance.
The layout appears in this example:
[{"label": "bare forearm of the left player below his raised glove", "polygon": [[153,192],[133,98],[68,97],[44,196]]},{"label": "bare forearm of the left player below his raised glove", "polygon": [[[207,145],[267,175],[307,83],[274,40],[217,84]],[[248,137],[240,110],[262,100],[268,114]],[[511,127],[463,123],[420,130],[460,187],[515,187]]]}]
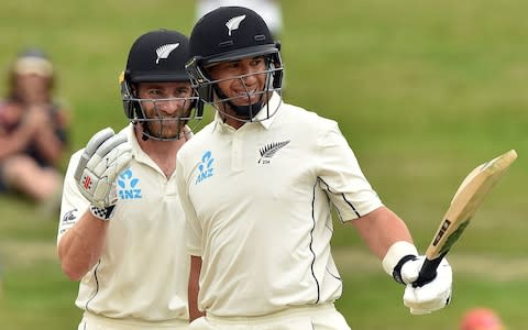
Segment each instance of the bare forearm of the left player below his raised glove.
[{"label": "bare forearm of the left player below his raised glove", "polygon": [[67,231],[58,244],[63,272],[72,280],[79,280],[99,260],[107,238],[108,221],[86,211]]}]

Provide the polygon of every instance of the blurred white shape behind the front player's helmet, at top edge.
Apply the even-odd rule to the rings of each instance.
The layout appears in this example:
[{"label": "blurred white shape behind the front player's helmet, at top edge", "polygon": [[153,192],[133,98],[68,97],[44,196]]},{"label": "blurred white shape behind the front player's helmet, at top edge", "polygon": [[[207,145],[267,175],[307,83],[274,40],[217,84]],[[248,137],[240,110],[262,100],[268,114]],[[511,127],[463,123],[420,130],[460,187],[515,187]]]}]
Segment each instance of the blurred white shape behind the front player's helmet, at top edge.
[{"label": "blurred white shape behind the front player's helmet, at top edge", "polygon": [[266,22],[275,40],[278,40],[283,30],[283,13],[279,0],[197,0],[196,20],[213,9],[223,6],[241,6],[252,9]]}]

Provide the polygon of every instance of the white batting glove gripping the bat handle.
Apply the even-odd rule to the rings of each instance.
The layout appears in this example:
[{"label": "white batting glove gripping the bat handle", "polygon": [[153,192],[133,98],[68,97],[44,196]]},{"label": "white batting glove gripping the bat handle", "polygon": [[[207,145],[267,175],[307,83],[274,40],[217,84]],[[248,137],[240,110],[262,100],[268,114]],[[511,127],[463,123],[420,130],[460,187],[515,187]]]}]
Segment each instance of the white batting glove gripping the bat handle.
[{"label": "white batting glove gripping the bat handle", "polygon": [[409,307],[410,314],[422,315],[442,309],[451,300],[452,270],[446,258],[442,258],[437,268],[437,277],[421,287],[414,287],[426,257],[418,256],[402,266],[402,279],[406,284],[404,305]]}]

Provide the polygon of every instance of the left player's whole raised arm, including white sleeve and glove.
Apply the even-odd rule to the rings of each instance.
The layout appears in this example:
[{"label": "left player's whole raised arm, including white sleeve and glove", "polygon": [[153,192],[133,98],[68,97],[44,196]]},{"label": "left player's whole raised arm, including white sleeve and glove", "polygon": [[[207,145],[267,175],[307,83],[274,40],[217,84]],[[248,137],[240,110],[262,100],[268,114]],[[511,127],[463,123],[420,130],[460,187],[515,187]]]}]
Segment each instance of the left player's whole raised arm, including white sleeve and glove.
[{"label": "left player's whole raised arm, including white sleeve and glove", "polygon": [[[80,279],[94,267],[105,249],[107,229],[118,200],[116,179],[131,158],[127,138],[106,129],[90,139],[80,158],[68,167],[63,207],[69,206],[66,210],[69,215],[66,212],[61,219],[57,252],[64,273],[74,280]],[[82,200],[79,205],[82,204],[84,209],[79,211],[84,213],[68,228],[69,218],[75,221],[74,213],[78,208],[67,202],[72,196]],[[63,230],[65,232],[61,233]]]}]

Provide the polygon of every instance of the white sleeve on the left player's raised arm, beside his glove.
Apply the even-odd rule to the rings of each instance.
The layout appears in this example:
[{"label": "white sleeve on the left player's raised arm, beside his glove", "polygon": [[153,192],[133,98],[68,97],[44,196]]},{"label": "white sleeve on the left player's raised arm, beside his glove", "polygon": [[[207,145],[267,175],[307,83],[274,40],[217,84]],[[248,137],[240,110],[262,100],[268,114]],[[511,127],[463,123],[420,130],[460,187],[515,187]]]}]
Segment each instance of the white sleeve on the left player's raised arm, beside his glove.
[{"label": "white sleeve on the left player's raised arm, beside his glove", "polygon": [[79,162],[82,150],[75,153],[69,160],[66,176],[64,178],[63,199],[61,202],[61,216],[57,232],[57,245],[61,238],[79,220],[86,212],[89,201],[80,194],[75,183],[74,173]]}]

